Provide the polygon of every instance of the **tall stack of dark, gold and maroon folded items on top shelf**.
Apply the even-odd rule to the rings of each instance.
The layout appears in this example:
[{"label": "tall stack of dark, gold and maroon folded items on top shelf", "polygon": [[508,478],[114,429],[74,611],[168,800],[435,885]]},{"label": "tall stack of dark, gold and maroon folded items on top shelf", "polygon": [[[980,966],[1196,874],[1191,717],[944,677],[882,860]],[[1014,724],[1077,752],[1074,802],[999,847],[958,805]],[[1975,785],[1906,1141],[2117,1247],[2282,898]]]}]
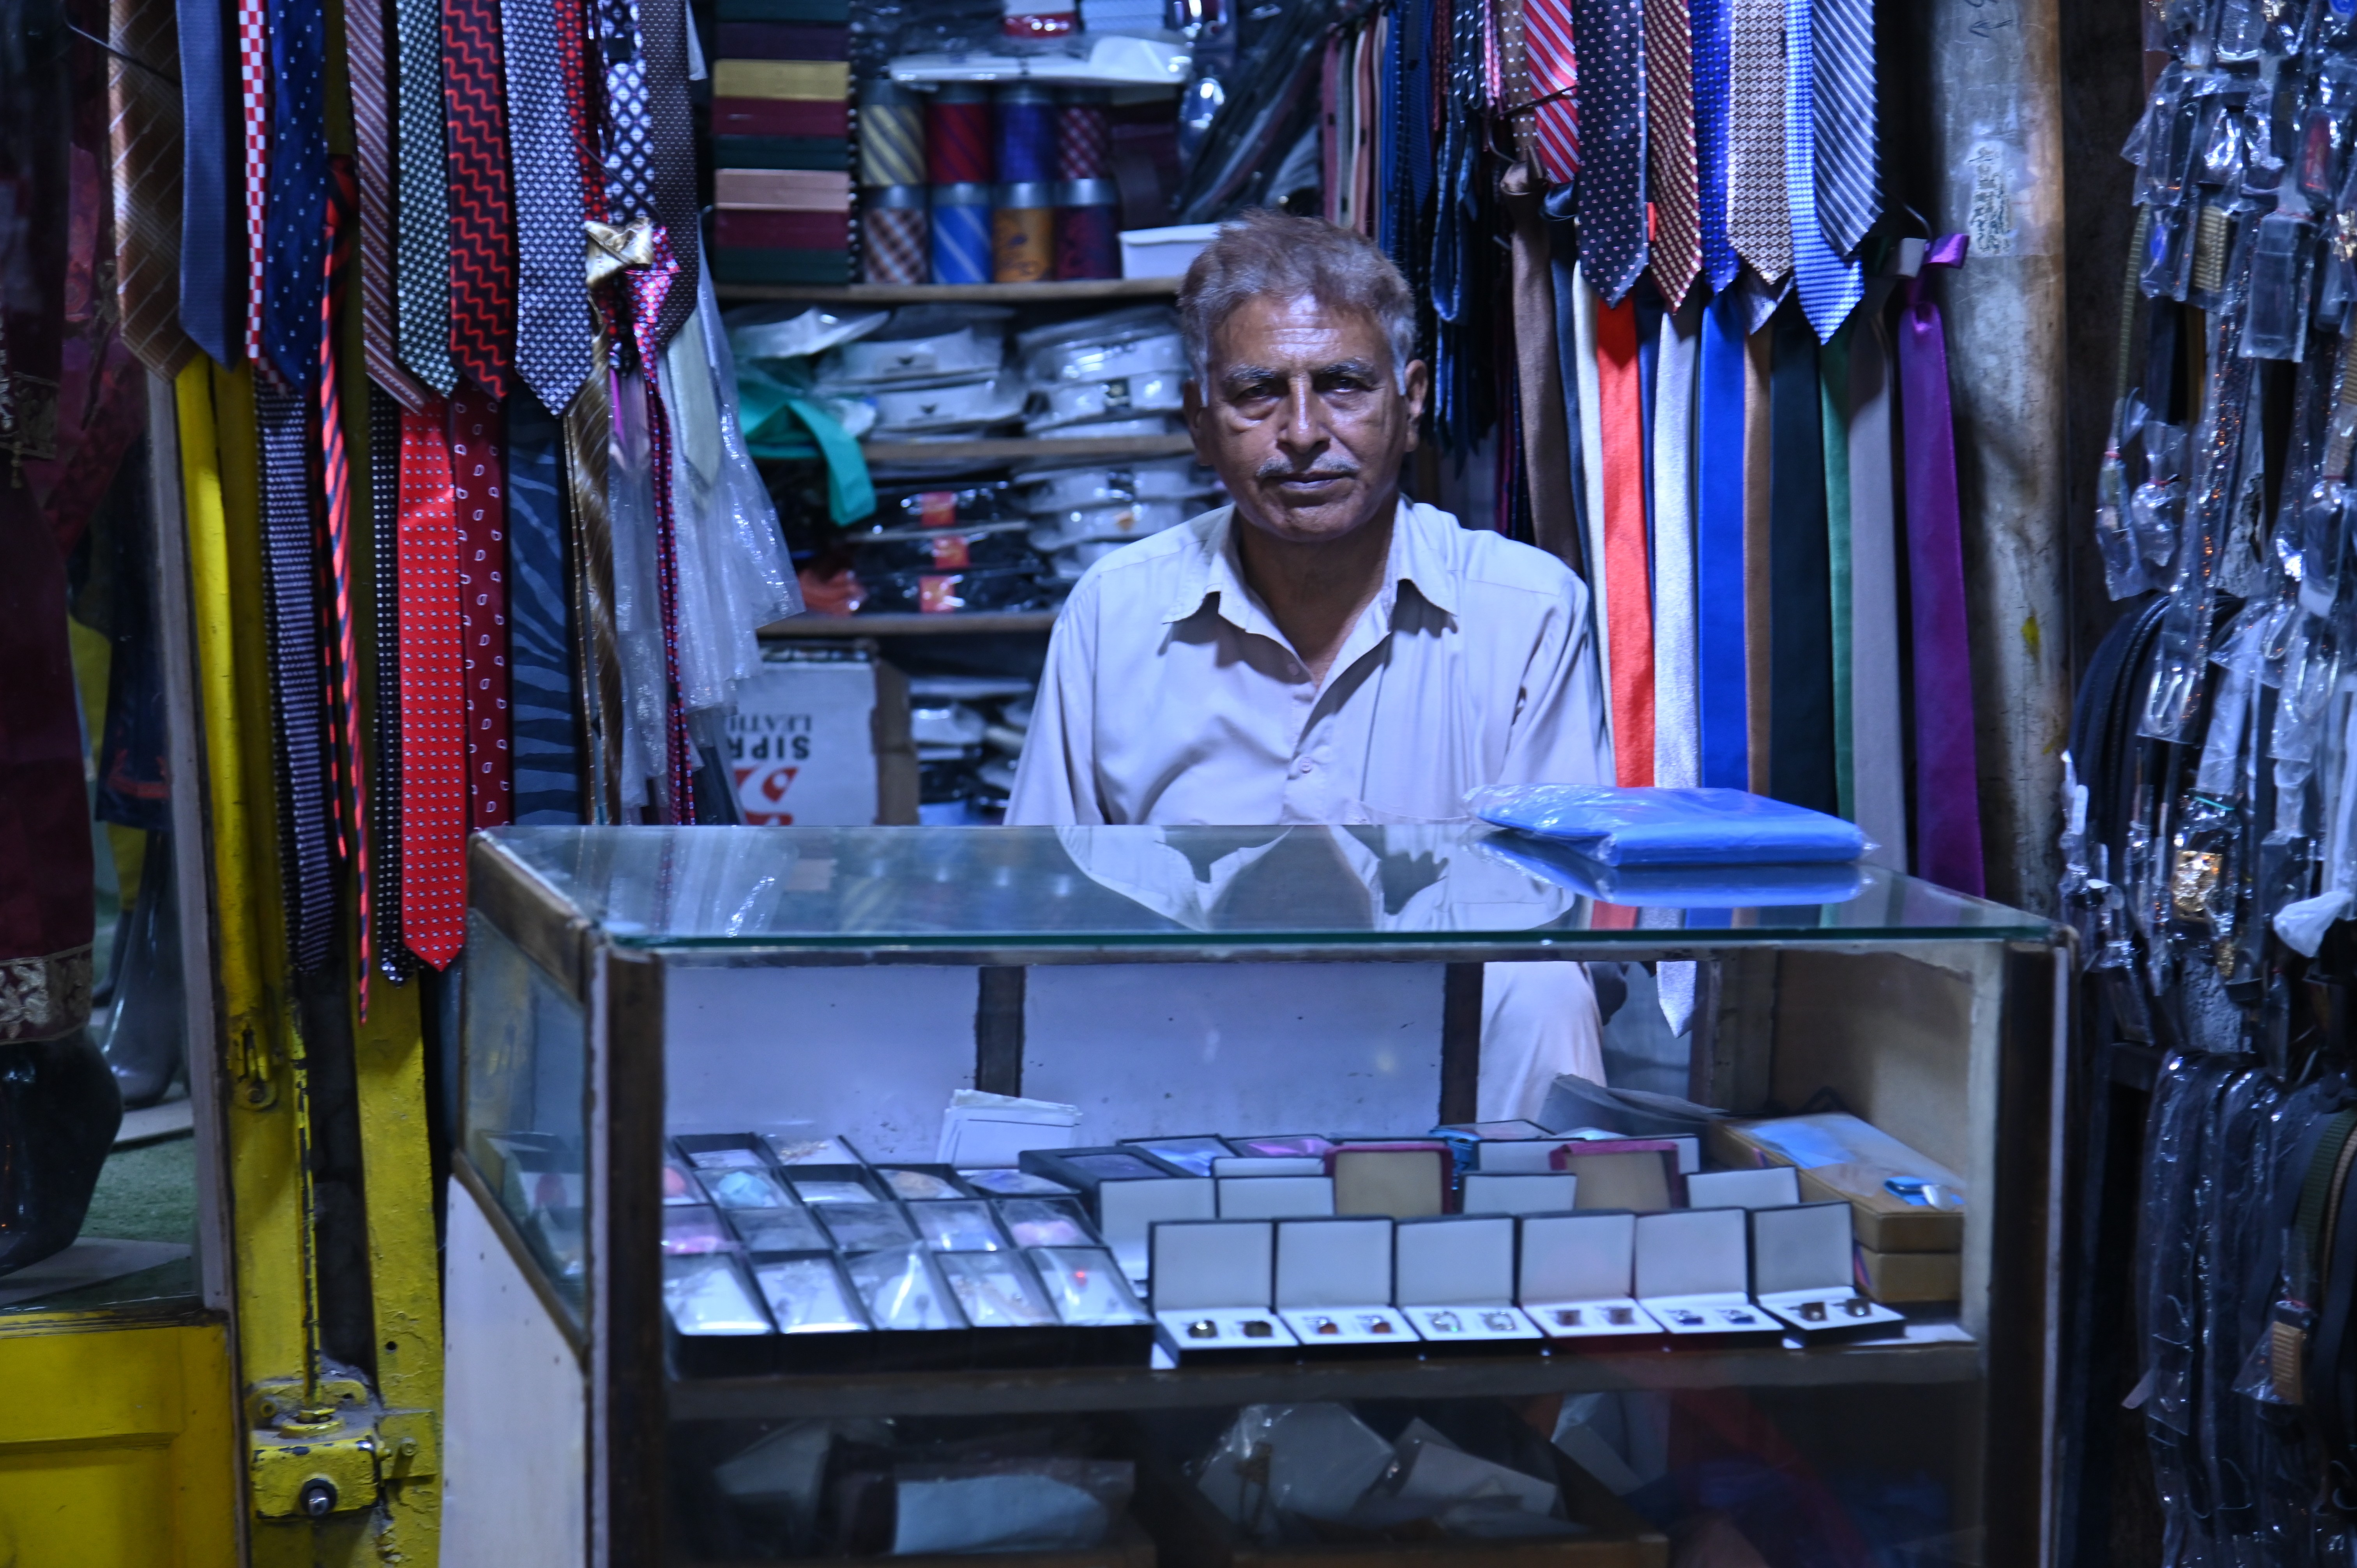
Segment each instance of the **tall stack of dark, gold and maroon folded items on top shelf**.
[{"label": "tall stack of dark, gold and maroon folded items on top shelf", "polygon": [[712,271],[851,281],[846,0],[721,0],[712,61]]}]

